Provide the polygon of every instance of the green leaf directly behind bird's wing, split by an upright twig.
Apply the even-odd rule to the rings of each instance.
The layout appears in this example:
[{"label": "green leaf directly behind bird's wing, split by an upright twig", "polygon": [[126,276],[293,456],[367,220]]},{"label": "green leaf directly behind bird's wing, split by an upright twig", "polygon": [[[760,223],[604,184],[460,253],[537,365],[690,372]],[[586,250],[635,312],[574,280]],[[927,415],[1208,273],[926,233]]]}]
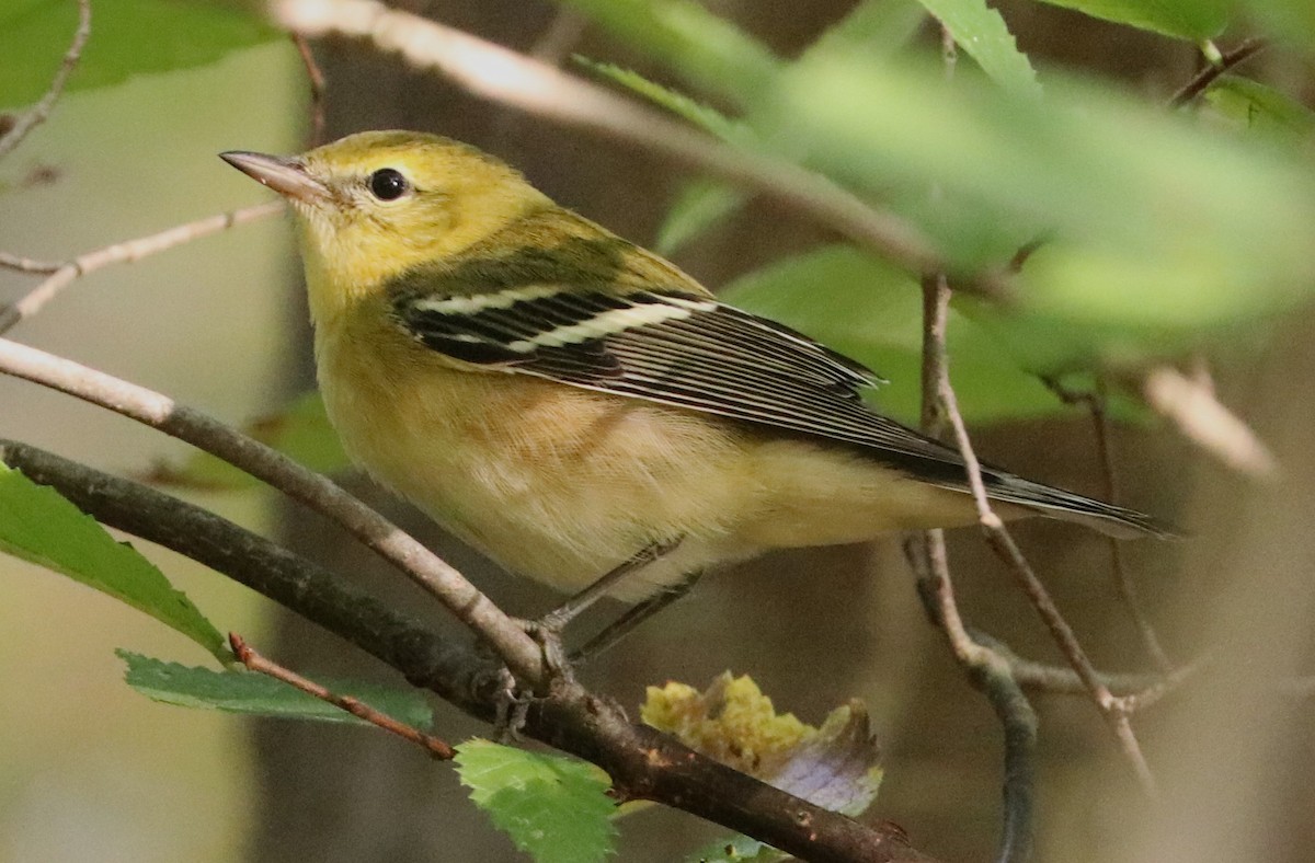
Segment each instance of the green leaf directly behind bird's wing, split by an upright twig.
[{"label": "green leaf directly behind bird's wing, split by an upright twig", "polygon": [[[873,397],[881,411],[917,422],[922,402],[922,294],[910,276],[849,246],[830,246],[743,276],[719,297],[789,324],[874,369],[890,380]],[[968,422],[1068,411],[992,332],[956,309],[949,311],[947,348],[955,391]],[[1064,363],[1055,366],[1076,363],[1073,353],[1057,360]]]}]

